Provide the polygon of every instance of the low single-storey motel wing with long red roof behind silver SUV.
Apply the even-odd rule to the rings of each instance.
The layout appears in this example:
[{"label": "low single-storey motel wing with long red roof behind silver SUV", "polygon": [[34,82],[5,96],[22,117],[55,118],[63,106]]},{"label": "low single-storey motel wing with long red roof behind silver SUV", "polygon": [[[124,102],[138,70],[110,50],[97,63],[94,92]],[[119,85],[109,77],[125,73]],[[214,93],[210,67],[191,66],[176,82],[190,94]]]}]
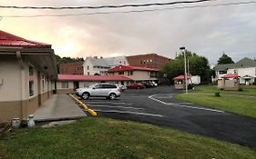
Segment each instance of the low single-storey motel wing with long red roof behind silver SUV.
[{"label": "low single-storey motel wing with long red roof behind silver SUV", "polygon": [[57,94],[73,93],[76,88],[88,87],[91,84],[110,83],[128,85],[133,80],[122,75],[58,75]]}]

